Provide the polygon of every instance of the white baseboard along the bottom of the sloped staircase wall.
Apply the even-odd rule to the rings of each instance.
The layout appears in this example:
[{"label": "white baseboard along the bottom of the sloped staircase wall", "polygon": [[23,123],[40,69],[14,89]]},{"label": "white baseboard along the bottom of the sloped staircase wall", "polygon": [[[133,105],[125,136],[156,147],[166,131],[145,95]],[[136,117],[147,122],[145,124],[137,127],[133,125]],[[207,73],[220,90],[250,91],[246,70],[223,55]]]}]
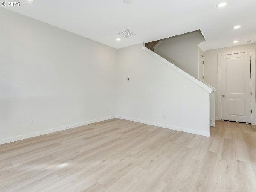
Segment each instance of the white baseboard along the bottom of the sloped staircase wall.
[{"label": "white baseboard along the bottom of the sloped staircase wall", "polygon": [[183,132],[187,132],[187,133],[191,133],[191,134],[197,134],[197,135],[203,135],[203,136],[206,136],[206,137],[210,137],[209,132],[196,131],[196,130],[193,130],[193,129],[176,127],[176,126],[172,126],[172,125],[166,125],[166,124],[150,122],[150,121],[145,121],[145,120],[140,120],[140,119],[134,119],[134,118],[124,117],[124,116],[116,116],[116,118],[125,119],[125,120],[129,120],[129,121],[134,121],[134,122],[139,122],[139,123],[144,123],[144,124],[147,124],[147,125],[154,125],[154,126],[157,126],[157,127],[173,129],[173,130],[176,130],[176,131],[183,131]]}]

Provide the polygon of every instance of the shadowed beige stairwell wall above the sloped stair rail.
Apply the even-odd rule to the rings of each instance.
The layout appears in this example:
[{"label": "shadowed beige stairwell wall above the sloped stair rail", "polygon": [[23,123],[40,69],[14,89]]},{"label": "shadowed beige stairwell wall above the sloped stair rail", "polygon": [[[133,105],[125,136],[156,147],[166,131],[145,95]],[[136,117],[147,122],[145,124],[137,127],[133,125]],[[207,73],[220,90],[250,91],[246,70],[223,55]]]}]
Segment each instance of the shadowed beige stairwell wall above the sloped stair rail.
[{"label": "shadowed beige stairwell wall above the sloped stair rail", "polygon": [[155,52],[190,75],[198,76],[198,44],[204,41],[200,32],[191,32],[163,40]]}]

